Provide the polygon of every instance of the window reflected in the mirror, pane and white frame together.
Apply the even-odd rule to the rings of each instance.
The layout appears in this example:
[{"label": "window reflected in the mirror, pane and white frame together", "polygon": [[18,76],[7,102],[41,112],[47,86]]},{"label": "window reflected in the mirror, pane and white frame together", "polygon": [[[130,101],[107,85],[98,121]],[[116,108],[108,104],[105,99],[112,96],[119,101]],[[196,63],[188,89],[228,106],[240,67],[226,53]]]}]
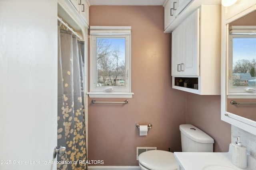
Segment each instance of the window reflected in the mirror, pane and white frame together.
[{"label": "window reflected in the mirror, pane and white frame together", "polygon": [[[233,26],[234,27],[234,26]],[[245,26],[243,26],[245,27]],[[244,29],[243,29],[244,30]],[[255,95],[256,35],[230,33],[228,51],[228,94]]]}]

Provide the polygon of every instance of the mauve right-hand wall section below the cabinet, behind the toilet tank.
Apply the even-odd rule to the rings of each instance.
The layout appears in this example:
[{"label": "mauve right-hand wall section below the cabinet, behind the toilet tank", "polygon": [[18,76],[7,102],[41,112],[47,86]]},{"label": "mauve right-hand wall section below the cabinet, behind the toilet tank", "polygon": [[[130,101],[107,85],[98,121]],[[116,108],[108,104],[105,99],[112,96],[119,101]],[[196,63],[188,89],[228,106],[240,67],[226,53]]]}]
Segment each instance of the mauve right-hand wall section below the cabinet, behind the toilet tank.
[{"label": "mauve right-hand wall section below the cabinet, behind the toilet tank", "polygon": [[231,127],[220,119],[220,96],[187,93],[186,123],[195,125],[214,139],[214,152],[228,152]]}]

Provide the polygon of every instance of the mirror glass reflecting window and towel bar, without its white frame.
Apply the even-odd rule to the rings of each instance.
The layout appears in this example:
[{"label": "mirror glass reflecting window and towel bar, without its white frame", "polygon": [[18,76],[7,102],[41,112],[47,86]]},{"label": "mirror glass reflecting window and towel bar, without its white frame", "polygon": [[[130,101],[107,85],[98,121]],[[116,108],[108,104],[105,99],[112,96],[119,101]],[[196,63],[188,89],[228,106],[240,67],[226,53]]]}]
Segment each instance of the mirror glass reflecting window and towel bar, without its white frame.
[{"label": "mirror glass reflecting window and towel bar, without its white frame", "polygon": [[227,27],[227,112],[256,121],[256,99],[244,99],[256,96],[256,11]]}]

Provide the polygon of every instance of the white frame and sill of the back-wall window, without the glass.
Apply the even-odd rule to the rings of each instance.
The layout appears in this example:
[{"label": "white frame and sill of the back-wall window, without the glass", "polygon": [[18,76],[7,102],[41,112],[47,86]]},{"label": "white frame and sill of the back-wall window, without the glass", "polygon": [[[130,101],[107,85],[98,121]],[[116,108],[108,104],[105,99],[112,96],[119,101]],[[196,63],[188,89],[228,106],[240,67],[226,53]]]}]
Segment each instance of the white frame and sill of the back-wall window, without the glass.
[{"label": "white frame and sill of the back-wall window, without the glass", "polygon": [[[97,86],[97,38],[125,38],[125,87]],[[90,26],[90,98],[132,98],[131,92],[131,27]]]}]

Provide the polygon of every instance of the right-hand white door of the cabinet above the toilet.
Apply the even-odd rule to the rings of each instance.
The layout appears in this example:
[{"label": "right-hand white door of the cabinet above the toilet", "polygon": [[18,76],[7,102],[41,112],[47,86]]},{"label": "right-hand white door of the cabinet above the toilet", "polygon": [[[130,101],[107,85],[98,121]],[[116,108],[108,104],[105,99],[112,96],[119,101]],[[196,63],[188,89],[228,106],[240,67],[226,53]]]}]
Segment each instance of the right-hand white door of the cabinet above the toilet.
[{"label": "right-hand white door of the cabinet above the toilet", "polygon": [[199,9],[186,18],[182,25],[182,75],[199,76]]}]

